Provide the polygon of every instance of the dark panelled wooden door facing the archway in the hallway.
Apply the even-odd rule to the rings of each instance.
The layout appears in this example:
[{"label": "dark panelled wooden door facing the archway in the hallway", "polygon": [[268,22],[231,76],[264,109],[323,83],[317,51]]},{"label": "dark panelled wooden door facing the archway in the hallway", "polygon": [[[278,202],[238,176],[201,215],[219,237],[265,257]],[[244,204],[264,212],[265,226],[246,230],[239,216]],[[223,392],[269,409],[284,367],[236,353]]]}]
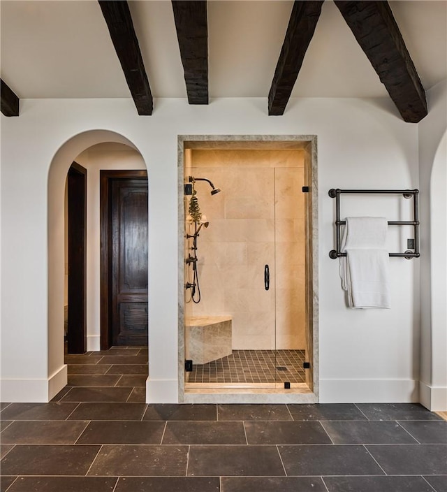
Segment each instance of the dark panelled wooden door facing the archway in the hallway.
[{"label": "dark panelled wooden door facing the archway in the hallway", "polygon": [[147,179],[111,182],[113,345],[147,345]]}]

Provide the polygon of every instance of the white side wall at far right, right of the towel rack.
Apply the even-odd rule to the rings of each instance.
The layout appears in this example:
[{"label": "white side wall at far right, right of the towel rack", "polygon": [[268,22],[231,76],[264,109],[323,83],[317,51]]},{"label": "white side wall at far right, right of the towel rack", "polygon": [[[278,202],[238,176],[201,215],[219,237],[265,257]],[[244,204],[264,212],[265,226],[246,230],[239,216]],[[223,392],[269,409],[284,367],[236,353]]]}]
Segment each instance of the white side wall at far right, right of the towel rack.
[{"label": "white side wall at far right, right of the towel rack", "polygon": [[447,82],[427,91],[429,114],[419,124],[421,243],[420,401],[447,409]]}]

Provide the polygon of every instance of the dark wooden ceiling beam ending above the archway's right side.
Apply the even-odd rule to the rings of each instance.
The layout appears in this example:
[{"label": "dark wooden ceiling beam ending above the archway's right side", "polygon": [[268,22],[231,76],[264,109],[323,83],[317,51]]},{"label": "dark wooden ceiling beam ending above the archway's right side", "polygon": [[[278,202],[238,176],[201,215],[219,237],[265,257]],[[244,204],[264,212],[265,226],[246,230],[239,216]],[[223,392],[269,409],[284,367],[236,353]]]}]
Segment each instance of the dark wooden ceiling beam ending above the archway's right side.
[{"label": "dark wooden ceiling beam ending above the archway's right side", "polygon": [[152,115],[154,102],[126,0],[98,0],[138,115]]}]

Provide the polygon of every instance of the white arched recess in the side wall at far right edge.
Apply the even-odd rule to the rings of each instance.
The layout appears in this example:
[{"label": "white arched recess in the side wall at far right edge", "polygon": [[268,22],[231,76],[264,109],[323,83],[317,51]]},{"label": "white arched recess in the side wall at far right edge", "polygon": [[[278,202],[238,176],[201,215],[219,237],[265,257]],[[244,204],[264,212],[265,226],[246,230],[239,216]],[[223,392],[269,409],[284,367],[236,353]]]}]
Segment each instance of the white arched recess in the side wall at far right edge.
[{"label": "white arched recess in the side wall at far right edge", "polygon": [[432,361],[430,410],[447,410],[447,131],[434,156],[430,179]]}]

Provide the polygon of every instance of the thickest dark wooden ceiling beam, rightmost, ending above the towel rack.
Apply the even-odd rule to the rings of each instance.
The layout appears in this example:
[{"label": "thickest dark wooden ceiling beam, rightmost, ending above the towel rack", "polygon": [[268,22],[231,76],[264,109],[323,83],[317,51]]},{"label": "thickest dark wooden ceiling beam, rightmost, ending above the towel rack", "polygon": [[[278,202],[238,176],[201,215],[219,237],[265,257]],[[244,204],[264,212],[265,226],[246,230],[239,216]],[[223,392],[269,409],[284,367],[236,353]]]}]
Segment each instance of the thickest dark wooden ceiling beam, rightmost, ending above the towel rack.
[{"label": "thickest dark wooden ceiling beam, rightmost, ending above the towel rack", "polygon": [[335,0],[335,4],[404,121],[420,122],[427,115],[425,90],[388,1]]}]

